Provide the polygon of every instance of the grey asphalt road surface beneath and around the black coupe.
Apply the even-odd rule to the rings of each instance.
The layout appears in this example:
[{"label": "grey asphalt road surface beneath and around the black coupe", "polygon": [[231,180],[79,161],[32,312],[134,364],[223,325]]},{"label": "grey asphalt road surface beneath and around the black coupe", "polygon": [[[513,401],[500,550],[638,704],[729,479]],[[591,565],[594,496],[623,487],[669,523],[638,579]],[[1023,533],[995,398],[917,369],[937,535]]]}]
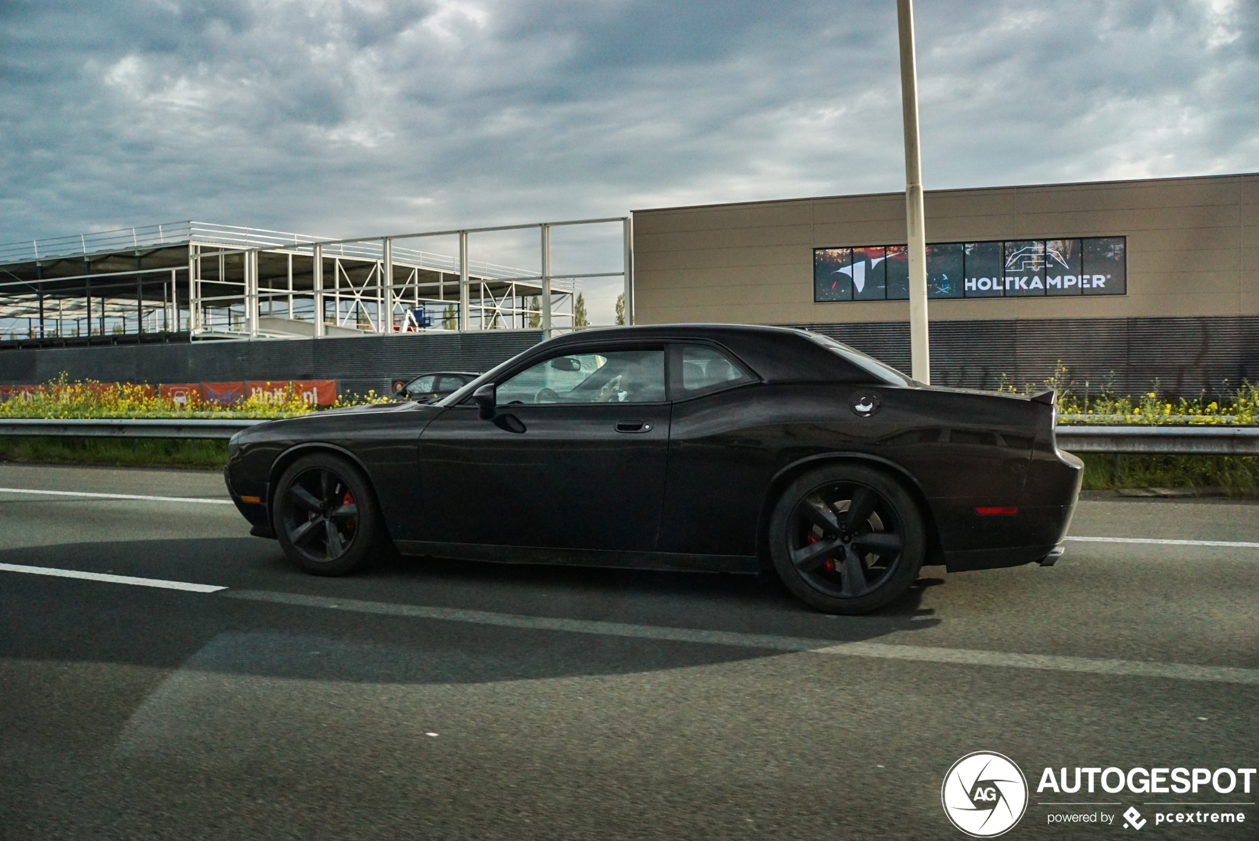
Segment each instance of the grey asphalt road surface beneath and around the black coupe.
[{"label": "grey asphalt road surface beneath and around the black coupe", "polygon": [[[225,499],[175,471],[0,487]],[[1259,837],[1255,777],[1036,791],[1046,767],[1256,765],[1259,546],[1075,540],[833,618],[735,575],[312,578],[208,501],[0,491],[0,565],[225,588],[0,567],[5,840],[963,838],[940,787],[977,750],[1030,784],[1003,837],[1132,832],[1129,806],[1142,837]],[[1071,535],[1259,543],[1259,506],[1083,501]],[[1195,810],[1245,823],[1156,823]],[[1113,823],[1050,823],[1074,813]]]}]

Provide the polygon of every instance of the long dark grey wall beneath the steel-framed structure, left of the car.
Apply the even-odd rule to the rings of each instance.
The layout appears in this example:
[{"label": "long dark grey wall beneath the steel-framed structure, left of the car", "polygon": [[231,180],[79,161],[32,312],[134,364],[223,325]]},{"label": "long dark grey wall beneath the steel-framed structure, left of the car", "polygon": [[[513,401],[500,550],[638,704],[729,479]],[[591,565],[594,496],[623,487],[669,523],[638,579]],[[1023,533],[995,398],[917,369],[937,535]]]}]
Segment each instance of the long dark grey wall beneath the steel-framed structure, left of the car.
[{"label": "long dark grey wall beneath the steel-framed structure, left of the car", "polygon": [[0,354],[0,383],[203,383],[335,379],[342,394],[384,393],[426,370],[485,371],[541,341],[541,331],[412,334],[291,341],[45,347]]}]

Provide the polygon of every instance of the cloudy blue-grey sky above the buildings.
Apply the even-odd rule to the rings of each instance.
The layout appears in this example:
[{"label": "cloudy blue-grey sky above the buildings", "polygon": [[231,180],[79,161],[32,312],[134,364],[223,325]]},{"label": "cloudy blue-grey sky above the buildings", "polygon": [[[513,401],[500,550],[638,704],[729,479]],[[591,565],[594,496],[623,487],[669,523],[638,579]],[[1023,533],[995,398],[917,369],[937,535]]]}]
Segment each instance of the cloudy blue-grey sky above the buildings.
[{"label": "cloudy blue-grey sky above the buildings", "polygon": [[[1254,171],[1254,0],[919,0],[928,189]],[[0,0],[0,242],[904,186],[894,0]]]}]

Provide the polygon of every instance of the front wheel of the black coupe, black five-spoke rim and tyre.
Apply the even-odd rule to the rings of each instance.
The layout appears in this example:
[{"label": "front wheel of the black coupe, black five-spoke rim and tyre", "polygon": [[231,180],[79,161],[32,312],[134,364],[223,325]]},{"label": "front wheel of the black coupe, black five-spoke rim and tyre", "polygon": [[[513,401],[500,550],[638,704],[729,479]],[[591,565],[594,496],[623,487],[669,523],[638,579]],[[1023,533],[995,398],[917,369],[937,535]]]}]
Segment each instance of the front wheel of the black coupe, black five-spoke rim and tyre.
[{"label": "front wheel of the black coupe, black five-spoke rim and tyre", "polygon": [[279,477],[273,499],[279,545],[313,575],[360,569],[389,541],[368,477],[339,456],[302,456]]}]

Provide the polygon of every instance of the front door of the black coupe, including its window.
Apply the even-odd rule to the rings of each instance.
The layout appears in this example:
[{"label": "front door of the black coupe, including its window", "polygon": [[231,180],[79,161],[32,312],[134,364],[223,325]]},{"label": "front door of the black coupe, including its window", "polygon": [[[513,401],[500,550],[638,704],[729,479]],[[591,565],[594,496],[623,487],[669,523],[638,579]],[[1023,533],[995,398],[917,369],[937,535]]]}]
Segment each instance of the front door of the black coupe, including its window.
[{"label": "front door of the black coupe, including its window", "polygon": [[421,436],[429,541],[655,549],[669,447],[663,346],[556,351],[509,374],[497,394],[494,419],[470,399]]}]

